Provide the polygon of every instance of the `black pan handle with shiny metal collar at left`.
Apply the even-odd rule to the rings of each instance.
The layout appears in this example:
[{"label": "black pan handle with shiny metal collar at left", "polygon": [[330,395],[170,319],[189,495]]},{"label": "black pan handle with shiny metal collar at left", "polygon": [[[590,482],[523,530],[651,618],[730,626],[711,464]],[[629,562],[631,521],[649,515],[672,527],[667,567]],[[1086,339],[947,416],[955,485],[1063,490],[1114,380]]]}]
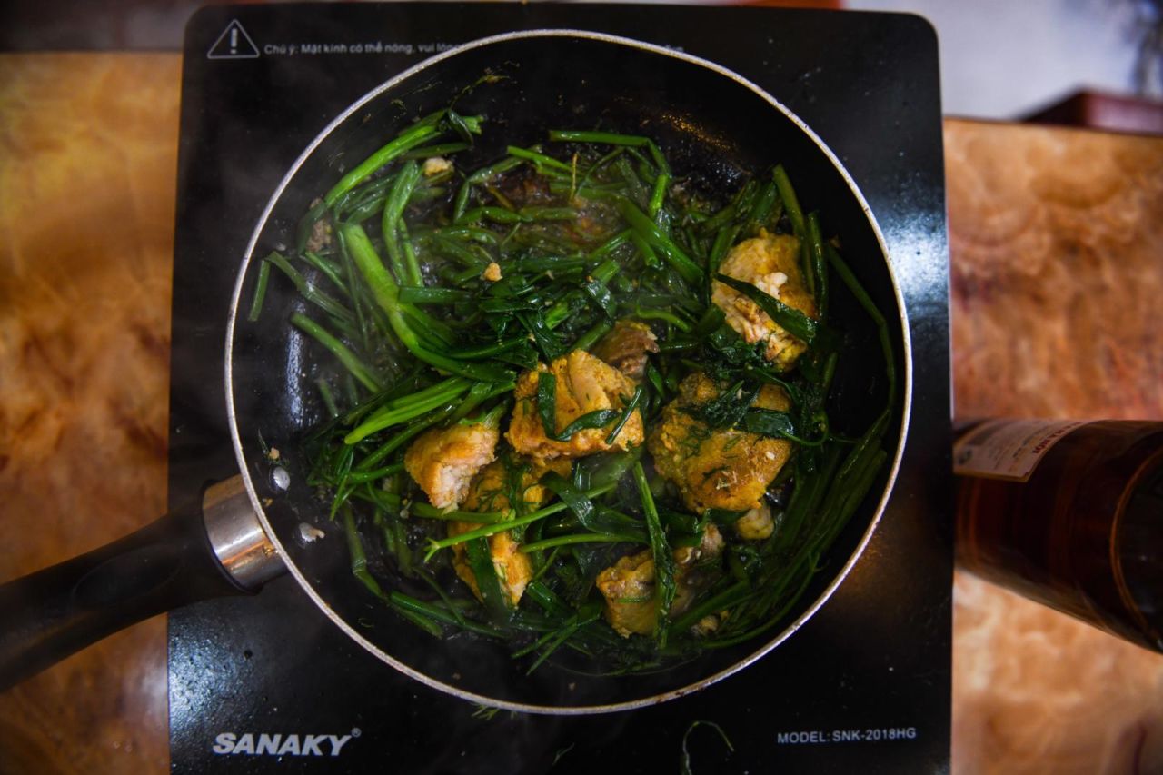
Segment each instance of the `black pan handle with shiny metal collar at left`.
[{"label": "black pan handle with shiny metal collar at left", "polygon": [[0,586],[0,691],[163,611],[254,593],[281,570],[241,477],[212,485],[200,504]]}]

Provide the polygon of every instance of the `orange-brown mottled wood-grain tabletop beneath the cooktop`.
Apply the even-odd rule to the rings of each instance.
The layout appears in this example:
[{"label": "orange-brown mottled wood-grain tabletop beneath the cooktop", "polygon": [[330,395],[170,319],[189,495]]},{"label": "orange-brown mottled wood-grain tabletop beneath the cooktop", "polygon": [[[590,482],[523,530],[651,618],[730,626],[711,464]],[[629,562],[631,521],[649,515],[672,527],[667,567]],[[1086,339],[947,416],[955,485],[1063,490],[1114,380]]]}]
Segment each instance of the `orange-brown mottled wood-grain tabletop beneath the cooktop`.
[{"label": "orange-brown mottled wood-grain tabletop beneath the cooktop", "polygon": [[[165,506],[180,57],[0,55],[0,582]],[[1163,140],[946,122],[962,415],[1163,419]],[[965,574],[955,773],[1163,772],[1163,656]],[[2,773],[164,773],[165,621],[0,695]]]}]

